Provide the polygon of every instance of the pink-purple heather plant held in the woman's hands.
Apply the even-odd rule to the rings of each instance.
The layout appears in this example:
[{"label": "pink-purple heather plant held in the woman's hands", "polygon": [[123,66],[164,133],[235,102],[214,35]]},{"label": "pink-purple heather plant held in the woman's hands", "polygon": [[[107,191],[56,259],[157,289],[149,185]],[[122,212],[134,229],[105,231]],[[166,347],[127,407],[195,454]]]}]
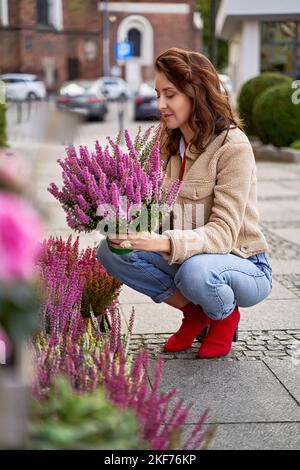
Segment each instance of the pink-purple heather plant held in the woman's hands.
[{"label": "pink-purple heather plant held in the woman's hands", "polygon": [[126,151],[118,145],[118,139],[114,142],[110,137],[111,148],[103,148],[98,141],[94,152],[85,146],[80,146],[79,154],[73,146],[67,148],[67,157],[58,160],[63,187],[60,190],[51,183],[48,190],[61,203],[70,228],[78,232],[98,228],[107,234],[106,224],[99,224],[107,221],[115,224],[116,233],[126,233],[142,210],[155,208],[147,224],[151,231],[160,214],[171,210],[181,183],[175,181],[168,191],[164,190],[160,128],[152,138],[151,131],[148,129],[143,136],[139,131],[133,141],[126,130]]}]

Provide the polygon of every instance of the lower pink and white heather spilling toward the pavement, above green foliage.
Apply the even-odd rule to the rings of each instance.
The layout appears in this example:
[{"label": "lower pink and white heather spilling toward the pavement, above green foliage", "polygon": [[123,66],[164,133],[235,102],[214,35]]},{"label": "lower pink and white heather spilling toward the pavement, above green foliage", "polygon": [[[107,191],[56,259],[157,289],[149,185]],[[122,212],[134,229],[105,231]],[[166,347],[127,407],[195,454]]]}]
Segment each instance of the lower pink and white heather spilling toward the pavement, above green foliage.
[{"label": "lower pink and white heather spilling toward the pavement, above green foliage", "polygon": [[[141,437],[152,449],[199,449],[207,439],[203,430],[207,412],[183,441],[181,433],[188,420],[190,406],[176,400],[175,389],[167,393],[159,390],[163,372],[161,358],[156,361],[153,384],[149,384],[149,353],[147,349],[141,349],[135,356],[127,353],[126,341],[120,333],[121,318],[117,305],[114,301],[109,308],[110,335],[101,333],[92,320],[82,324],[77,310],[68,334],[52,331],[50,335],[38,336],[35,344],[35,393],[42,398],[43,392],[60,374],[66,374],[74,390],[82,393],[104,385],[112,403],[121,409],[135,411]],[[133,315],[134,312],[132,319]]]}]

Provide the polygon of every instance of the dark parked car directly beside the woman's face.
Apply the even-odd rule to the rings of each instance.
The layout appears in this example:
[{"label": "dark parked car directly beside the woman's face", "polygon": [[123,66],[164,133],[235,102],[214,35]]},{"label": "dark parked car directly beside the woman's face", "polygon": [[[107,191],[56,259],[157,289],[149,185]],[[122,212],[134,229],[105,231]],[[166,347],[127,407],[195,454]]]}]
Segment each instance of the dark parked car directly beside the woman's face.
[{"label": "dark parked car directly beside the woman's face", "polygon": [[134,119],[160,119],[154,85],[142,83],[134,98]]}]

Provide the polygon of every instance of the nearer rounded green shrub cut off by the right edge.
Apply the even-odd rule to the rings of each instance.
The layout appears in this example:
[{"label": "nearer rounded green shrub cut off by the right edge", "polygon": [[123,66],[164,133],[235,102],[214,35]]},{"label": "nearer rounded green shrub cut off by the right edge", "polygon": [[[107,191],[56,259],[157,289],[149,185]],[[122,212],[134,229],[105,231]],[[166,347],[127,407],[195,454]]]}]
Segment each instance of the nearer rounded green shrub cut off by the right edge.
[{"label": "nearer rounded green shrub cut off by the right edge", "polygon": [[293,104],[290,84],[275,85],[255,101],[252,119],[264,144],[288,147],[300,139],[300,105]]}]

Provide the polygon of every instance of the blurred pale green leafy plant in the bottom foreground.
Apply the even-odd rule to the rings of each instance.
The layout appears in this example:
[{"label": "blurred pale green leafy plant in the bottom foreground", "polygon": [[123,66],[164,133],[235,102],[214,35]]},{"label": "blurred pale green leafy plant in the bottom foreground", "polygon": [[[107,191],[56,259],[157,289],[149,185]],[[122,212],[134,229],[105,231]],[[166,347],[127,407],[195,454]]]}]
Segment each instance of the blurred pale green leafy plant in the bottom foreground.
[{"label": "blurred pale green leafy plant in the bottom foreground", "polygon": [[111,404],[102,389],[76,393],[59,377],[42,401],[34,401],[30,421],[30,449],[139,450],[148,449],[139,437],[130,410]]}]

